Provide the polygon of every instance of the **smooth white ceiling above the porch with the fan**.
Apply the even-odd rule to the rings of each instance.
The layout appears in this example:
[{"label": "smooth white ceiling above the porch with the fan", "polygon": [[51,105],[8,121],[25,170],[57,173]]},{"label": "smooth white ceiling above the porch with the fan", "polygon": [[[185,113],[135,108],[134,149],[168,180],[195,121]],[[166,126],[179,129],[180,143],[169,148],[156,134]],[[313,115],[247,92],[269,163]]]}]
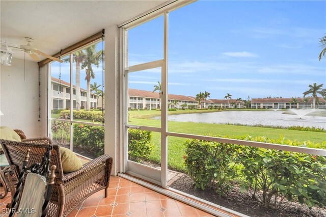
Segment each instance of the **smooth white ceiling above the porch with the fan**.
[{"label": "smooth white ceiling above the porch with the fan", "polygon": [[[1,40],[12,46],[26,44],[54,55],[106,26],[121,24],[167,0],[155,1],[0,1]],[[23,51],[14,51],[23,59]],[[41,60],[45,59],[40,57]],[[29,55],[26,60],[33,61]]]}]

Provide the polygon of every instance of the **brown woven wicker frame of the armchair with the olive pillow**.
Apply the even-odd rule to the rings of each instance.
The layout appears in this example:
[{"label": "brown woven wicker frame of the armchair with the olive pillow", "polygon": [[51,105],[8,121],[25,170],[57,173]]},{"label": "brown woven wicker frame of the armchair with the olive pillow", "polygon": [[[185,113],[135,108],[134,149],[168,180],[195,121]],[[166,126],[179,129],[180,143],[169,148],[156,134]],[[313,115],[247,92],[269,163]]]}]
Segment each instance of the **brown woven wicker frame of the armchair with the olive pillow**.
[{"label": "brown woven wicker frame of the armchair with the olive pillow", "polygon": [[[31,149],[28,167],[35,162],[42,161],[42,156],[47,144],[30,142],[14,142],[0,140],[9,164],[19,174],[22,169],[22,161],[27,149]],[[58,145],[52,145],[50,166],[56,165],[56,178],[53,186],[47,216],[67,216],[80,202],[84,201],[95,192],[107,188],[110,183],[110,174],[113,159],[104,154],[87,162],[80,170],[63,173],[61,155]]]}]

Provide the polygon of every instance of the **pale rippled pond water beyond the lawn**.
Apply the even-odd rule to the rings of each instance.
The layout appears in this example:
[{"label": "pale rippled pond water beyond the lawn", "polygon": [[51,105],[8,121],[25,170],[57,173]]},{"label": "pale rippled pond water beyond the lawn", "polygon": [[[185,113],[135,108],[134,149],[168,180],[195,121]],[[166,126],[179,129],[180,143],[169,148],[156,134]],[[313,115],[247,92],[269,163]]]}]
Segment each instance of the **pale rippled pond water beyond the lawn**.
[{"label": "pale rippled pond water beyond the lawn", "polygon": [[[268,126],[309,126],[326,129],[325,112],[320,116],[283,114],[284,111],[223,111],[202,114],[169,115],[169,121]],[[301,117],[301,118],[300,118]],[[153,119],[160,119],[154,117]]]}]

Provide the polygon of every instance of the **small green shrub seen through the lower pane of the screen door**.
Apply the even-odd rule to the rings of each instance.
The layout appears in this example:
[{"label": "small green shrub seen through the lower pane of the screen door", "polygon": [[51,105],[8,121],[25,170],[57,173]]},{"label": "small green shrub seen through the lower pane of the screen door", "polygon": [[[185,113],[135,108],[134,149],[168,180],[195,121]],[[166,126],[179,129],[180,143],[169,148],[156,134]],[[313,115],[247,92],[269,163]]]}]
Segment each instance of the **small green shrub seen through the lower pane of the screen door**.
[{"label": "small green shrub seen through the lower pane of the screen door", "polygon": [[151,131],[137,129],[128,130],[129,159],[137,162],[147,159],[153,148]]}]

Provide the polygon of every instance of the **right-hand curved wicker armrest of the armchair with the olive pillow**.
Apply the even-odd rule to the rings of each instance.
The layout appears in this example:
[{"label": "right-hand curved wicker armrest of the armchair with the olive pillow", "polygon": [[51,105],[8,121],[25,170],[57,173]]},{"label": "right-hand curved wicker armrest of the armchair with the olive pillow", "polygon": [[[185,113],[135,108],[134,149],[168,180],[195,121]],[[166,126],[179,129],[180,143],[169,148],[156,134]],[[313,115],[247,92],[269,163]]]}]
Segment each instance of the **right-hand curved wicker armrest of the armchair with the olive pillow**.
[{"label": "right-hand curved wicker armrest of the armchair with the olive pillow", "polygon": [[83,173],[85,173],[85,172],[90,172],[92,170],[95,170],[100,165],[105,165],[105,172],[107,172],[107,181],[108,181],[110,179],[112,162],[113,162],[113,158],[110,155],[103,154],[103,155],[87,162],[85,165],[83,165],[82,168],[80,168],[80,170],[64,174],[61,181],[67,182],[67,181],[69,181],[69,179],[74,179],[75,177],[77,177],[79,175],[83,175]]}]

